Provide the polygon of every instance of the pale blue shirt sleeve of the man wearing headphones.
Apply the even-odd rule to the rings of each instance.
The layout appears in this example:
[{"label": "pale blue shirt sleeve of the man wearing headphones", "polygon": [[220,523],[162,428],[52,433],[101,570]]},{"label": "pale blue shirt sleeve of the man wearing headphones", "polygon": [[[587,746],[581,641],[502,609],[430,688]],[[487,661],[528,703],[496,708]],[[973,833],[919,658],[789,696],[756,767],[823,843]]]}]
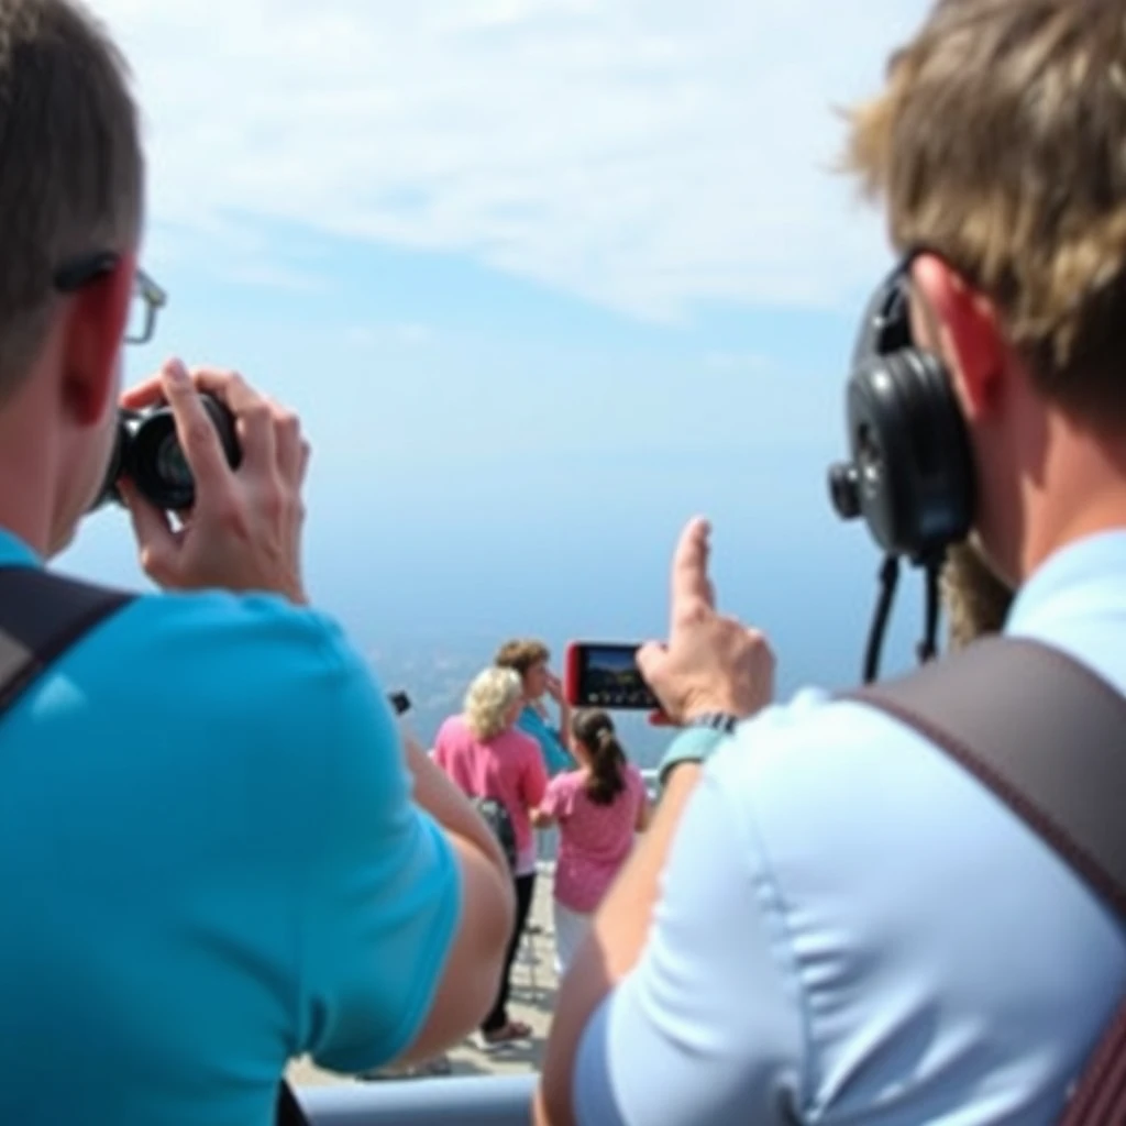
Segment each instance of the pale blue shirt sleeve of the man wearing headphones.
[{"label": "pale blue shirt sleeve of the man wearing headphones", "polygon": [[723,788],[722,771],[706,770],[642,957],[582,1034],[581,1126],[781,1124],[802,1105],[801,990],[779,892]]}]

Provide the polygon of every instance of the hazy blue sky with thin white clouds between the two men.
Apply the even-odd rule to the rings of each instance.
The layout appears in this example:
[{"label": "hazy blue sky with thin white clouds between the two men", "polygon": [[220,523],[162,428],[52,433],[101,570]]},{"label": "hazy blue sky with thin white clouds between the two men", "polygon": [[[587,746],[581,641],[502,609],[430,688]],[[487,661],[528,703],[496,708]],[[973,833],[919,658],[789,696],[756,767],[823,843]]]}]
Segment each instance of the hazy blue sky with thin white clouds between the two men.
[{"label": "hazy blue sky with thin white clouds between the two men", "polygon": [[[832,166],[921,0],[93,10],[170,294],[129,377],[178,355],[298,410],[310,592],[377,662],[660,635],[700,512],[783,683],[856,676],[878,558],[825,468],[890,258]],[[119,511],[63,563],[141,581]]]}]

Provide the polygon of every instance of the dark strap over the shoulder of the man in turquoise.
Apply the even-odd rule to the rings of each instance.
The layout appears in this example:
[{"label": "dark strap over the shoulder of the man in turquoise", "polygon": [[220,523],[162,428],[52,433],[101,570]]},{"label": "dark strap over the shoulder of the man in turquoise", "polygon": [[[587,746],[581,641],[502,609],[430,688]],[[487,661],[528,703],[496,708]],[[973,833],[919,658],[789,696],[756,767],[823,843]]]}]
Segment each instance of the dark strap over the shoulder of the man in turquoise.
[{"label": "dark strap over the shoulder of the man in turquoise", "polygon": [[[135,596],[38,568],[0,568],[0,716],[56,658]],[[307,1126],[288,1083],[276,1126]]]}]

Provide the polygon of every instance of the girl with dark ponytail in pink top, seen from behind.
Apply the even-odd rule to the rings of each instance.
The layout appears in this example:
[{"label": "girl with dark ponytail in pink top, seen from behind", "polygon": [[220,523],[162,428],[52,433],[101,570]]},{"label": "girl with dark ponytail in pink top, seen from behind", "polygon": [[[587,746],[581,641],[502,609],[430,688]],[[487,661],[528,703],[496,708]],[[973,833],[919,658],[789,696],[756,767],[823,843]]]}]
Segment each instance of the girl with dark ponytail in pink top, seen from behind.
[{"label": "girl with dark ponytail in pink top, seen from behind", "polygon": [[641,771],[626,759],[614,721],[595,709],[575,712],[571,747],[579,769],[551,780],[534,815],[537,825],[557,824],[555,863],[555,971],[562,976],[633,848],[634,833],[649,825],[650,802]]}]

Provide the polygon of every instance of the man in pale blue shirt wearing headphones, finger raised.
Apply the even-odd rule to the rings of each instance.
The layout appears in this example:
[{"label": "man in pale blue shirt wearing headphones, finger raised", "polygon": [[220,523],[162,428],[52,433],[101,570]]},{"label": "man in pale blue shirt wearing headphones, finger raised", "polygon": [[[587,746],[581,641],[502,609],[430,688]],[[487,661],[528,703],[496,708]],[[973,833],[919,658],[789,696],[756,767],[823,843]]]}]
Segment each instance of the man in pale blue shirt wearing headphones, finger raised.
[{"label": "man in pale blue shirt wearing headphones, finger raised", "polygon": [[[1126,0],[939,0],[849,145],[901,254],[850,378],[859,486],[901,489],[877,516],[922,531],[930,504],[1017,591],[1003,652],[1097,673],[1106,707],[1126,689],[1124,75]],[[640,656],[685,730],[563,983],[539,1120],[1058,1120],[1126,988],[1111,901],[910,724],[816,691],[769,706],[769,646],[717,609],[708,542],[685,531],[668,642]]]}]

